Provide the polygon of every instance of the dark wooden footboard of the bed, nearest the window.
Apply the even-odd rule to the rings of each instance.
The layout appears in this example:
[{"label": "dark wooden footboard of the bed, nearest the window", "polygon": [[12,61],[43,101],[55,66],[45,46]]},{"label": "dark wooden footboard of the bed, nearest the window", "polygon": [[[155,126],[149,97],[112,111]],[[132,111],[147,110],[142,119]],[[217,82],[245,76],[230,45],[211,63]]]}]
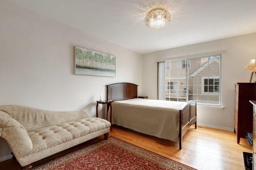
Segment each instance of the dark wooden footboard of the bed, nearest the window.
[{"label": "dark wooden footboard of the bed, nearest the window", "polygon": [[188,128],[195,124],[196,129],[196,101],[190,100],[188,103],[180,107],[180,132],[179,141],[180,149],[182,149],[182,137],[188,130]]}]

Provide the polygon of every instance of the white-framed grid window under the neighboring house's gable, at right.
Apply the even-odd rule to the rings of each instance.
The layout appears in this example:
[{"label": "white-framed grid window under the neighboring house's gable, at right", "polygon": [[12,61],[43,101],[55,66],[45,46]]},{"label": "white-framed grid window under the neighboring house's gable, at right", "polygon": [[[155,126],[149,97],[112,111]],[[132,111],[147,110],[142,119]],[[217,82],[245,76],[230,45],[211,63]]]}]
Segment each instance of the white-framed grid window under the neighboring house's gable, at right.
[{"label": "white-framed grid window under the neighboring house's gable, at right", "polygon": [[220,79],[219,78],[203,78],[204,88],[202,93],[219,93]]}]

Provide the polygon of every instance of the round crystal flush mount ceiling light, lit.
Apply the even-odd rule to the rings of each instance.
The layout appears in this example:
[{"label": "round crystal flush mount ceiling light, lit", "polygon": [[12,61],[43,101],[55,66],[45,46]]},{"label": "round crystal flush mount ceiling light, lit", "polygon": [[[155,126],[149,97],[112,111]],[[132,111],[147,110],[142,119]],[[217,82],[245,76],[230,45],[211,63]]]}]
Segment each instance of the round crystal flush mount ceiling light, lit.
[{"label": "round crystal flush mount ceiling light, lit", "polygon": [[151,10],[145,17],[145,24],[150,28],[162,28],[171,20],[171,15],[168,11],[157,8]]}]

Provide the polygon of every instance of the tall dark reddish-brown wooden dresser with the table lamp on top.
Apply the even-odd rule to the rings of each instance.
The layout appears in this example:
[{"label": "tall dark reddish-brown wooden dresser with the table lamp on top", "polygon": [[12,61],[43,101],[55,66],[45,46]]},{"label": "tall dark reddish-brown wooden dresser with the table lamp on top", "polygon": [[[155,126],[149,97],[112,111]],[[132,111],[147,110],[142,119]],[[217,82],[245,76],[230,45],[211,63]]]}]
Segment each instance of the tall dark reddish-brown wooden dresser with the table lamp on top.
[{"label": "tall dark reddish-brown wooden dresser with the table lamp on top", "polygon": [[240,143],[240,138],[245,138],[248,132],[252,133],[253,108],[250,100],[255,100],[254,83],[236,83],[234,132],[237,135],[237,143]]}]

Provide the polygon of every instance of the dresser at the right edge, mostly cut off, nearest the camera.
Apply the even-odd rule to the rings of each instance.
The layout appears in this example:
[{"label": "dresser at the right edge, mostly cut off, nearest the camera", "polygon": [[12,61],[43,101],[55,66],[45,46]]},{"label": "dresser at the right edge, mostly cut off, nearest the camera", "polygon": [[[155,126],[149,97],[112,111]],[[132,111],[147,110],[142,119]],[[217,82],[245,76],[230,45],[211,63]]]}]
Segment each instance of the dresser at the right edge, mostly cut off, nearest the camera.
[{"label": "dresser at the right edge, mostly cut off, nearest the camera", "polygon": [[[250,101],[253,105],[253,135],[252,135],[252,169],[256,170],[256,101],[252,100]],[[254,160],[255,159],[255,160]]]}]

